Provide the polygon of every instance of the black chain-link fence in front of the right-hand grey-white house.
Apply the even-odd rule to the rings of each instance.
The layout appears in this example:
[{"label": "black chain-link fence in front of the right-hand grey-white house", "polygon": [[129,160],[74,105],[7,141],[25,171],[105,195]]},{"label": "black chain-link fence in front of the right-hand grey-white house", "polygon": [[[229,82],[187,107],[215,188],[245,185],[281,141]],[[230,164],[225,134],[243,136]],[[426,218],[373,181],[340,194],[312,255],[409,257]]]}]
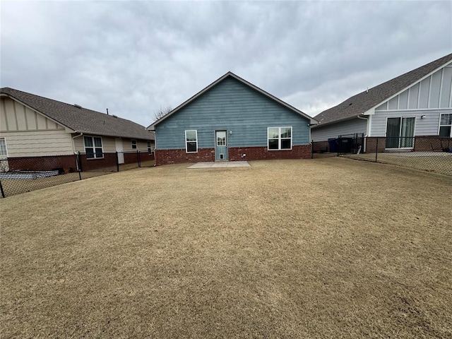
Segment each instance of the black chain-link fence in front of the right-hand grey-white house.
[{"label": "black chain-link fence in front of the right-hand grey-white house", "polygon": [[364,137],[355,134],[312,144],[314,158],[336,155],[452,175],[452,138]]}]

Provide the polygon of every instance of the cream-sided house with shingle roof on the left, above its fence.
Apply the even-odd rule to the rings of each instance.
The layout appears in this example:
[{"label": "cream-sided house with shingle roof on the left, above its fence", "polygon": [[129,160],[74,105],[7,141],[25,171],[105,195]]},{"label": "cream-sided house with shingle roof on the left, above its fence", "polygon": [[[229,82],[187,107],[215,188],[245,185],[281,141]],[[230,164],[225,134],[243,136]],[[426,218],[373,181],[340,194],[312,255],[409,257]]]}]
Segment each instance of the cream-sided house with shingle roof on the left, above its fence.
[{"label": "cream-sided house with shingle roof on the left, above its fence", "polygon": [[105,153],[148,151],[154,134],[144,126],[79,105],[0,89],[0,159],[86,153],[93,161]]}]

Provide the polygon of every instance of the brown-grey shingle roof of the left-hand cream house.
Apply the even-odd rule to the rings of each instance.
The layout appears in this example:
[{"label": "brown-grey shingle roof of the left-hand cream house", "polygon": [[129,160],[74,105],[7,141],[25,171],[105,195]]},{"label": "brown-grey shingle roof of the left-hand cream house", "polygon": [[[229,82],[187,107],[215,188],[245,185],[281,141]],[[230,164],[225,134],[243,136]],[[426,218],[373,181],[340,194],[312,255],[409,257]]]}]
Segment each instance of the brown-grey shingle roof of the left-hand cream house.
[{"label": "brown-grey shingle roof of the left-hand cream house", "polygon": [[78,105],[66,104],[65,102],[7,87],[0,88],[0,96],[11,97],[13,100],[40,112],[45,117],[49,117],[58,124],[72,130],[73,133],[92,133],[100,136],[145,140],[155,139],[155,134],[150,133],[140,124],[121,119],[114,115],[86,109]]}]

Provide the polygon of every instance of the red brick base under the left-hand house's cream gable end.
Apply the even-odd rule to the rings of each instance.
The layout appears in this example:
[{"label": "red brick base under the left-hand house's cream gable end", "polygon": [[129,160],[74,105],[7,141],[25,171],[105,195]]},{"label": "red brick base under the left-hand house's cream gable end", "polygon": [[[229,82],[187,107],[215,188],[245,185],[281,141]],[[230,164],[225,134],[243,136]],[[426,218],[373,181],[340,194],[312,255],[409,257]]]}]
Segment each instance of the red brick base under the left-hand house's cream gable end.
[{"label": "red brick base under the left-hand house's cream gable end", "polygon": [[10,171],[49,171],[61,169],[64,173],[77,172],[75,155],[43,156],[43,157],[8,157]]}]

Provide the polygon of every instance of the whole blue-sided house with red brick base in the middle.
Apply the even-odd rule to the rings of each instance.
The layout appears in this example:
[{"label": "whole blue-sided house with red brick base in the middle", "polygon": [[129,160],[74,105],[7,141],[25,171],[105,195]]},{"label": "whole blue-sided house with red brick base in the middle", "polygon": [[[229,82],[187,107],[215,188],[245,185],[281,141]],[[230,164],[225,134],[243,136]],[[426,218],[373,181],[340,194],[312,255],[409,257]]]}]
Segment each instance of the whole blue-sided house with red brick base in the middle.
[{"label": "whole blue-sided house with red brick base in the middle", "polygon": [[316,120],[228,72],[164,117],[155,164],[311,157]]}]

